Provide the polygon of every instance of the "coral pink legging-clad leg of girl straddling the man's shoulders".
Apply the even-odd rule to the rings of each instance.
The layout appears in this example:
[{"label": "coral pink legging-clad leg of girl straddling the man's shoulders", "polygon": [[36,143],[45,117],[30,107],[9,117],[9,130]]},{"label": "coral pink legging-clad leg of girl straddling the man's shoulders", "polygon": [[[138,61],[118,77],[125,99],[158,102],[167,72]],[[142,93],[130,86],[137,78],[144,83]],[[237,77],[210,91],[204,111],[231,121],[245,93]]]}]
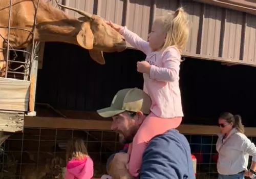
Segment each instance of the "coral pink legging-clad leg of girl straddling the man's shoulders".
[{"label": "coral pink legging-clad leg of girl straddling the man's shoulders", "polygon": [[153,113],[148,115],[137,131],[132,145],[129,146],[130,161],[129,172],[132,176],[138,176],[142,163],[142,154],[147,143],[155,136],[169,129],[177,128],[182,118],[158,118]]}]

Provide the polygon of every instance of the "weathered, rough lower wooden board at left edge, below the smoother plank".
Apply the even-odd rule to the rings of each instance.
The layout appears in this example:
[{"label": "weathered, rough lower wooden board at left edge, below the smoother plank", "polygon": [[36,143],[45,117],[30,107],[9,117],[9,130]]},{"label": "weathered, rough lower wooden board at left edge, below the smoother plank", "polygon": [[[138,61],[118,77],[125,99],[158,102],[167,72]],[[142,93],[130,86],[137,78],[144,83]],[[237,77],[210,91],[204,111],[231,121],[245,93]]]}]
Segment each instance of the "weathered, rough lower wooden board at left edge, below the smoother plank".
[{"label": "weathered, rough lower wooden board at left edge, below the smoother plank", "polygon": [[0,131],[20,132],[24,128],[25,113],[0,110]]}]

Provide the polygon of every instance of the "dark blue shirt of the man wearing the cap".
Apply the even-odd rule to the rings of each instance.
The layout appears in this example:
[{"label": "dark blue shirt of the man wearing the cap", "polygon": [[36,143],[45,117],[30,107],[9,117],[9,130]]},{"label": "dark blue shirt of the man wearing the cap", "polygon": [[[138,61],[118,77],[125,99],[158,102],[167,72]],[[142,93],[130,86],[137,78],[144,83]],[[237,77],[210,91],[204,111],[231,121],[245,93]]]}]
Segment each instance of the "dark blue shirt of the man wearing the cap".
[{"label": "dark blue shirt of the man wearing the cap", "polygon": [[[108,164],[113,158],[114,154],[110,156]],[[190,147],[185,136],[171,129],[154,137],[143,153],[138,178],[195,179]]]}]

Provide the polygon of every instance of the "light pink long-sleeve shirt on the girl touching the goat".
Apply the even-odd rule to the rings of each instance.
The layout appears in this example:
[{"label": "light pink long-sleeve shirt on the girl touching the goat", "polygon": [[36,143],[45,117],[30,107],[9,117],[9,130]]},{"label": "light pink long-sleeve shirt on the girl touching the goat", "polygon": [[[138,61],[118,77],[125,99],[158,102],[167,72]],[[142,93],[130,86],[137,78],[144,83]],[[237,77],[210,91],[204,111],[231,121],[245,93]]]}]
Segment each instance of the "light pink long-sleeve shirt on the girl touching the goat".
[{"label": "light pink long-sleeve shirt on the girl touching the goat", "polygon": [[151,111],[160,118],[183,117],[179,87],[181,54],[174,46],[152,51],[149,43],[126,27],[120,29],[127,42],[146,55],[150,75],[143,74],[144,92],[152,99]]}]

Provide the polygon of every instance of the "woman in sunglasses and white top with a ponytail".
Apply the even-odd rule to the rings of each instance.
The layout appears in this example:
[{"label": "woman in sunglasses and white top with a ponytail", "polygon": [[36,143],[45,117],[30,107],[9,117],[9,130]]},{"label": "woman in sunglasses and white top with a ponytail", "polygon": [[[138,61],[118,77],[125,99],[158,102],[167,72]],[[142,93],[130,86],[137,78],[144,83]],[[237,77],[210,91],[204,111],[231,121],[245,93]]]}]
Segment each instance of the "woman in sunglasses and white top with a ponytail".
[{"label": "woman in sunglasses and white top with a ponytail", "polygon": [[[219,118],[221,134],[216,144],[219,153],[218,179],[244,179],[256,176],[256,147],[244,135],[241,116],[223,113]],[[249,155],[252,156],[250,169],[247,170]]]}]

